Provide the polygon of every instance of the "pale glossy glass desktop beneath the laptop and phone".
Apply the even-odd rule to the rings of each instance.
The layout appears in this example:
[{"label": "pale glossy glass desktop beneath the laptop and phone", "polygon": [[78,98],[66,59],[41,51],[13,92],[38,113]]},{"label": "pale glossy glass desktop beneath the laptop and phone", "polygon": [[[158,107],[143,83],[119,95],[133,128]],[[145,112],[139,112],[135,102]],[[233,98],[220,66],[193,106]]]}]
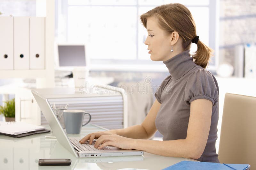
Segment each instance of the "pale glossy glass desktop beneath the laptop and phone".
[{"label": "pale glossy glass desktop beneath the laptop and phone", "polygon": [[[50,129],[50,127],[46,127]],[[79,135],[68,137],[84,137],[86,134],[105,129],[87,124]],[[121,156],[100,158],[76,158],[68,152],[53,136],[52,132],[35,134],[22,138],[12,138],[0,135],[0,169],[3,170],[98,170],[98,169],[163,169],[182,160],[196,161],[187,158],[164,157],[144,152],[143,156]],[[38,166],[38,159],[69,158],[70,166]]]}]

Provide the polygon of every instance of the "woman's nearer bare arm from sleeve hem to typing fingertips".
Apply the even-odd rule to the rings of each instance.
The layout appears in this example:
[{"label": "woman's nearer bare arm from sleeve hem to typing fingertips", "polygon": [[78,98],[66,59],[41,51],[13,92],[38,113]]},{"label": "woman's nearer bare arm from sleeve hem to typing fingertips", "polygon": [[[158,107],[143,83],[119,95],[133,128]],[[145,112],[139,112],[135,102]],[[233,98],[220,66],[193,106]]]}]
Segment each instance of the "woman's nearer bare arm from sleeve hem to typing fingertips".
[{"label": "woman's nearer bare arm from sleeve hem to typing fingertips", "polygon": [[129,139],[118,135],[103,135],[95,143],[99,149],[112,145],[123,149],[136,149],[145,152],[170,156],[198,159],[204,152],[211,126],[212,102],[197,99],[191,102],[190,117],[186,139],[155,141]]}]

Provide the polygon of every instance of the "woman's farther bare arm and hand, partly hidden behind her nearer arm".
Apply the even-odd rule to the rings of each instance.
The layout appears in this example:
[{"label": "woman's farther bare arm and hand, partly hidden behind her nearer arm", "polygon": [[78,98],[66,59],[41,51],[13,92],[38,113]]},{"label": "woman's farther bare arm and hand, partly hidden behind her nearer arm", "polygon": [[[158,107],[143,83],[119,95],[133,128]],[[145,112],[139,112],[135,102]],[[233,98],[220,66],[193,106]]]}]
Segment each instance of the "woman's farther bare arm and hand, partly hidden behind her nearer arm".
[{"label": "woman's farther bare arm and hand, partly hidden behind her nearer arm", "polygon": [[90,133],[82,138],[80,143],[84,143],[86,140],[90,140],[90,143],[92,143],[93,139],[98,139],[102,135],[111,134],[117,134],[126,138],[148,139],[156,133],[155,119],[160,106],[161,104],[156,100],[141,125],[135,125],[124,129]]}]

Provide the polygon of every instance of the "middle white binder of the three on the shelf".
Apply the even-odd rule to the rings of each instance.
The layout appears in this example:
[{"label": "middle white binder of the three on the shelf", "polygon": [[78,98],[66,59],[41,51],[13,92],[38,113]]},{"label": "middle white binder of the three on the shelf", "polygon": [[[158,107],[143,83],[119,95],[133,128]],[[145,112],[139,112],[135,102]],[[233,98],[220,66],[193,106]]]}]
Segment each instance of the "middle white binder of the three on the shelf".
[{"label": "middle white binder of the three on the shelf", "polygon": [[14,17],[14,69],[29,69],[29,17]]}]

